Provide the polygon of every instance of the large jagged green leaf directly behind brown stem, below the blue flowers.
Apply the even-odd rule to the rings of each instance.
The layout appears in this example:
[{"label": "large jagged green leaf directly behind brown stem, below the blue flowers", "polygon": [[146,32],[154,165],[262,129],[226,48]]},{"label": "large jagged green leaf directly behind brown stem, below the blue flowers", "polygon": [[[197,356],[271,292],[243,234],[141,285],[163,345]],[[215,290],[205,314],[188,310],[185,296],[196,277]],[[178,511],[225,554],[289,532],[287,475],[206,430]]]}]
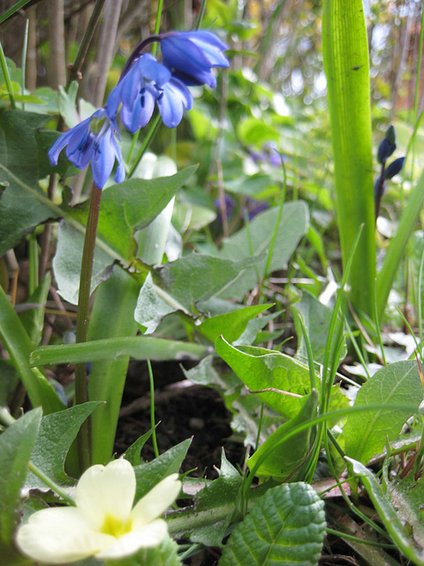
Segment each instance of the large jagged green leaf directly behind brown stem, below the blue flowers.
[{"label": "large jagged green leaf directly behind brown stem, below the blue flowers", "polygon": [[[110,277],[114,261],[132,264],[137,244],[134,234],[148,226],[196,170],[187,167],[170,177],[133,179],[108,187],[102,195],[97,228],[95,264],[91,292]],[[57,252],[53,269],[59,293],[68,302],[78,303],[84,230],[89,203],[65,211],[66,222],[58,228]]]}]

